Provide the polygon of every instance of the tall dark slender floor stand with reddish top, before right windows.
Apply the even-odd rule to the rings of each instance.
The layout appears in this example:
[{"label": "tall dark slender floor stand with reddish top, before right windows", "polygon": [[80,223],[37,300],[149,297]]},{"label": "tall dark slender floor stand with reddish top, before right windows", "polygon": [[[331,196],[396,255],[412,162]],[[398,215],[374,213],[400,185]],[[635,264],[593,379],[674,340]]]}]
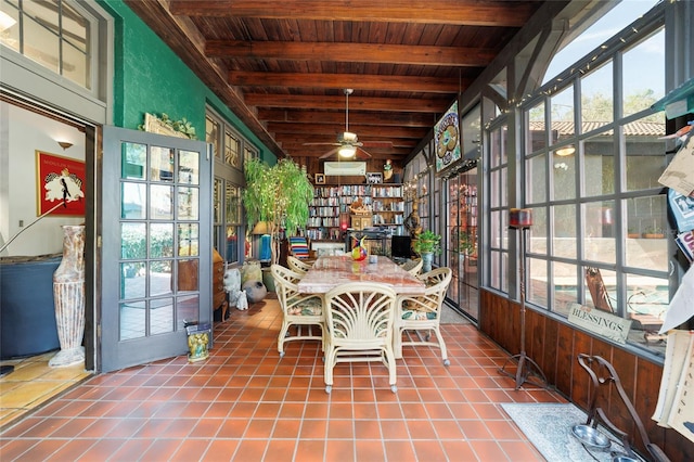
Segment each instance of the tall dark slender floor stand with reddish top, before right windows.
[{"label": "tall dark slender floor stand with reddish top, before right windows", "polygon": [[[529,208],[512,208],[509,214],[509,227],[518,230],[517,235],[520,238],[518,245],[518,275],[520,280],[520,354],[512,356],[506,360],[500,372],[516,380],[516,390],[520,388],[524,383],[530,385],[545,387],[547,377],[540,369],[540,367],[532,359],[528,358],[525,351],[525,243],[528,229],[532,226],[532,214]],[[516,360],[518,367],[516,373],[513,374],[506,371],[509,361]],[[535,377],[531,377],[535,375]],[[539,382],[537,378],[541,378]]]}]

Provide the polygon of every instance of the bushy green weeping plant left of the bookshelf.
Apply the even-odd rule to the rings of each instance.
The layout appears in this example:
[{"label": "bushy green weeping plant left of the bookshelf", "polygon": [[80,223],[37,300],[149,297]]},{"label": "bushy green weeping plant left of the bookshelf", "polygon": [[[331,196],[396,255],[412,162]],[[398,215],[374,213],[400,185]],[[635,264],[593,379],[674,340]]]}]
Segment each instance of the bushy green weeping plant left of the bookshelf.
[{"label": "bushy green weeping plant left of the bookshelf", "polygon": [[306,171],[290,158],[280,159],[273,166],[254,158],[246,162],[244,171],[243,205],[248,226],[253,228],[259,221],[269,224],[272,264],[277,264],[279,232],[284,229],[287,236],[292,236],[297,229],[306,227],[313,185]]}]

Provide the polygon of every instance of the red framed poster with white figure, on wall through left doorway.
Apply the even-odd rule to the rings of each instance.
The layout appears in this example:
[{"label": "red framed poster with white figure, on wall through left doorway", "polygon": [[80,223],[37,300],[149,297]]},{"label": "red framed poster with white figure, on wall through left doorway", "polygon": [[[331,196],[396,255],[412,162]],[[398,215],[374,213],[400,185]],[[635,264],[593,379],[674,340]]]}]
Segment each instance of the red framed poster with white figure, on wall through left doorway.
[{"label": "red framed poster with white figure, on wall through left doorway", "polygon": [[36,151],[36,214],[85,216],[85,163]]}]

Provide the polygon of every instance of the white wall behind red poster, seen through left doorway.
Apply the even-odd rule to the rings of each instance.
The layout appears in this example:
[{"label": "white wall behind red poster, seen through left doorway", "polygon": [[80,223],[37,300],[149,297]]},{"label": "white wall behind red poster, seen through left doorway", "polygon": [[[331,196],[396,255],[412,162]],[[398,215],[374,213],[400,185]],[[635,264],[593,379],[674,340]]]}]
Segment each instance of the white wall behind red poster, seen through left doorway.
[{"label": "white wall behind red poster, seen through left doorway", "polygon": [[[0,102],[0,247],[37,213],[36,150],[85,161],[85,133],[33,112]],[[73,146],[63,151],[57,141]],[[24,227],[20,227],[24,221]],[[0,256],[33,256],[60,253],[63,224],[79,224],[83,217],[42,218],[16,238]]]}]

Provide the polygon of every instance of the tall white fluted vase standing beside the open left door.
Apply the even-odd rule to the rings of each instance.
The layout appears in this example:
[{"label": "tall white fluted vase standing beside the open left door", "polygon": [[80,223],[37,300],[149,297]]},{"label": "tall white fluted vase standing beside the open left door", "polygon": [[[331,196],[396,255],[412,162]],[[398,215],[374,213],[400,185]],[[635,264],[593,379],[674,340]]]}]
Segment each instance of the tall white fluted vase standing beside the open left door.
[{"label": "tall white fluted vase standing beside the open left door", "polygon": [[63,227],[63,259],[53,273],[55,324],[61,350],[49,361],[51,368],[85,360],[85,226]]}]

